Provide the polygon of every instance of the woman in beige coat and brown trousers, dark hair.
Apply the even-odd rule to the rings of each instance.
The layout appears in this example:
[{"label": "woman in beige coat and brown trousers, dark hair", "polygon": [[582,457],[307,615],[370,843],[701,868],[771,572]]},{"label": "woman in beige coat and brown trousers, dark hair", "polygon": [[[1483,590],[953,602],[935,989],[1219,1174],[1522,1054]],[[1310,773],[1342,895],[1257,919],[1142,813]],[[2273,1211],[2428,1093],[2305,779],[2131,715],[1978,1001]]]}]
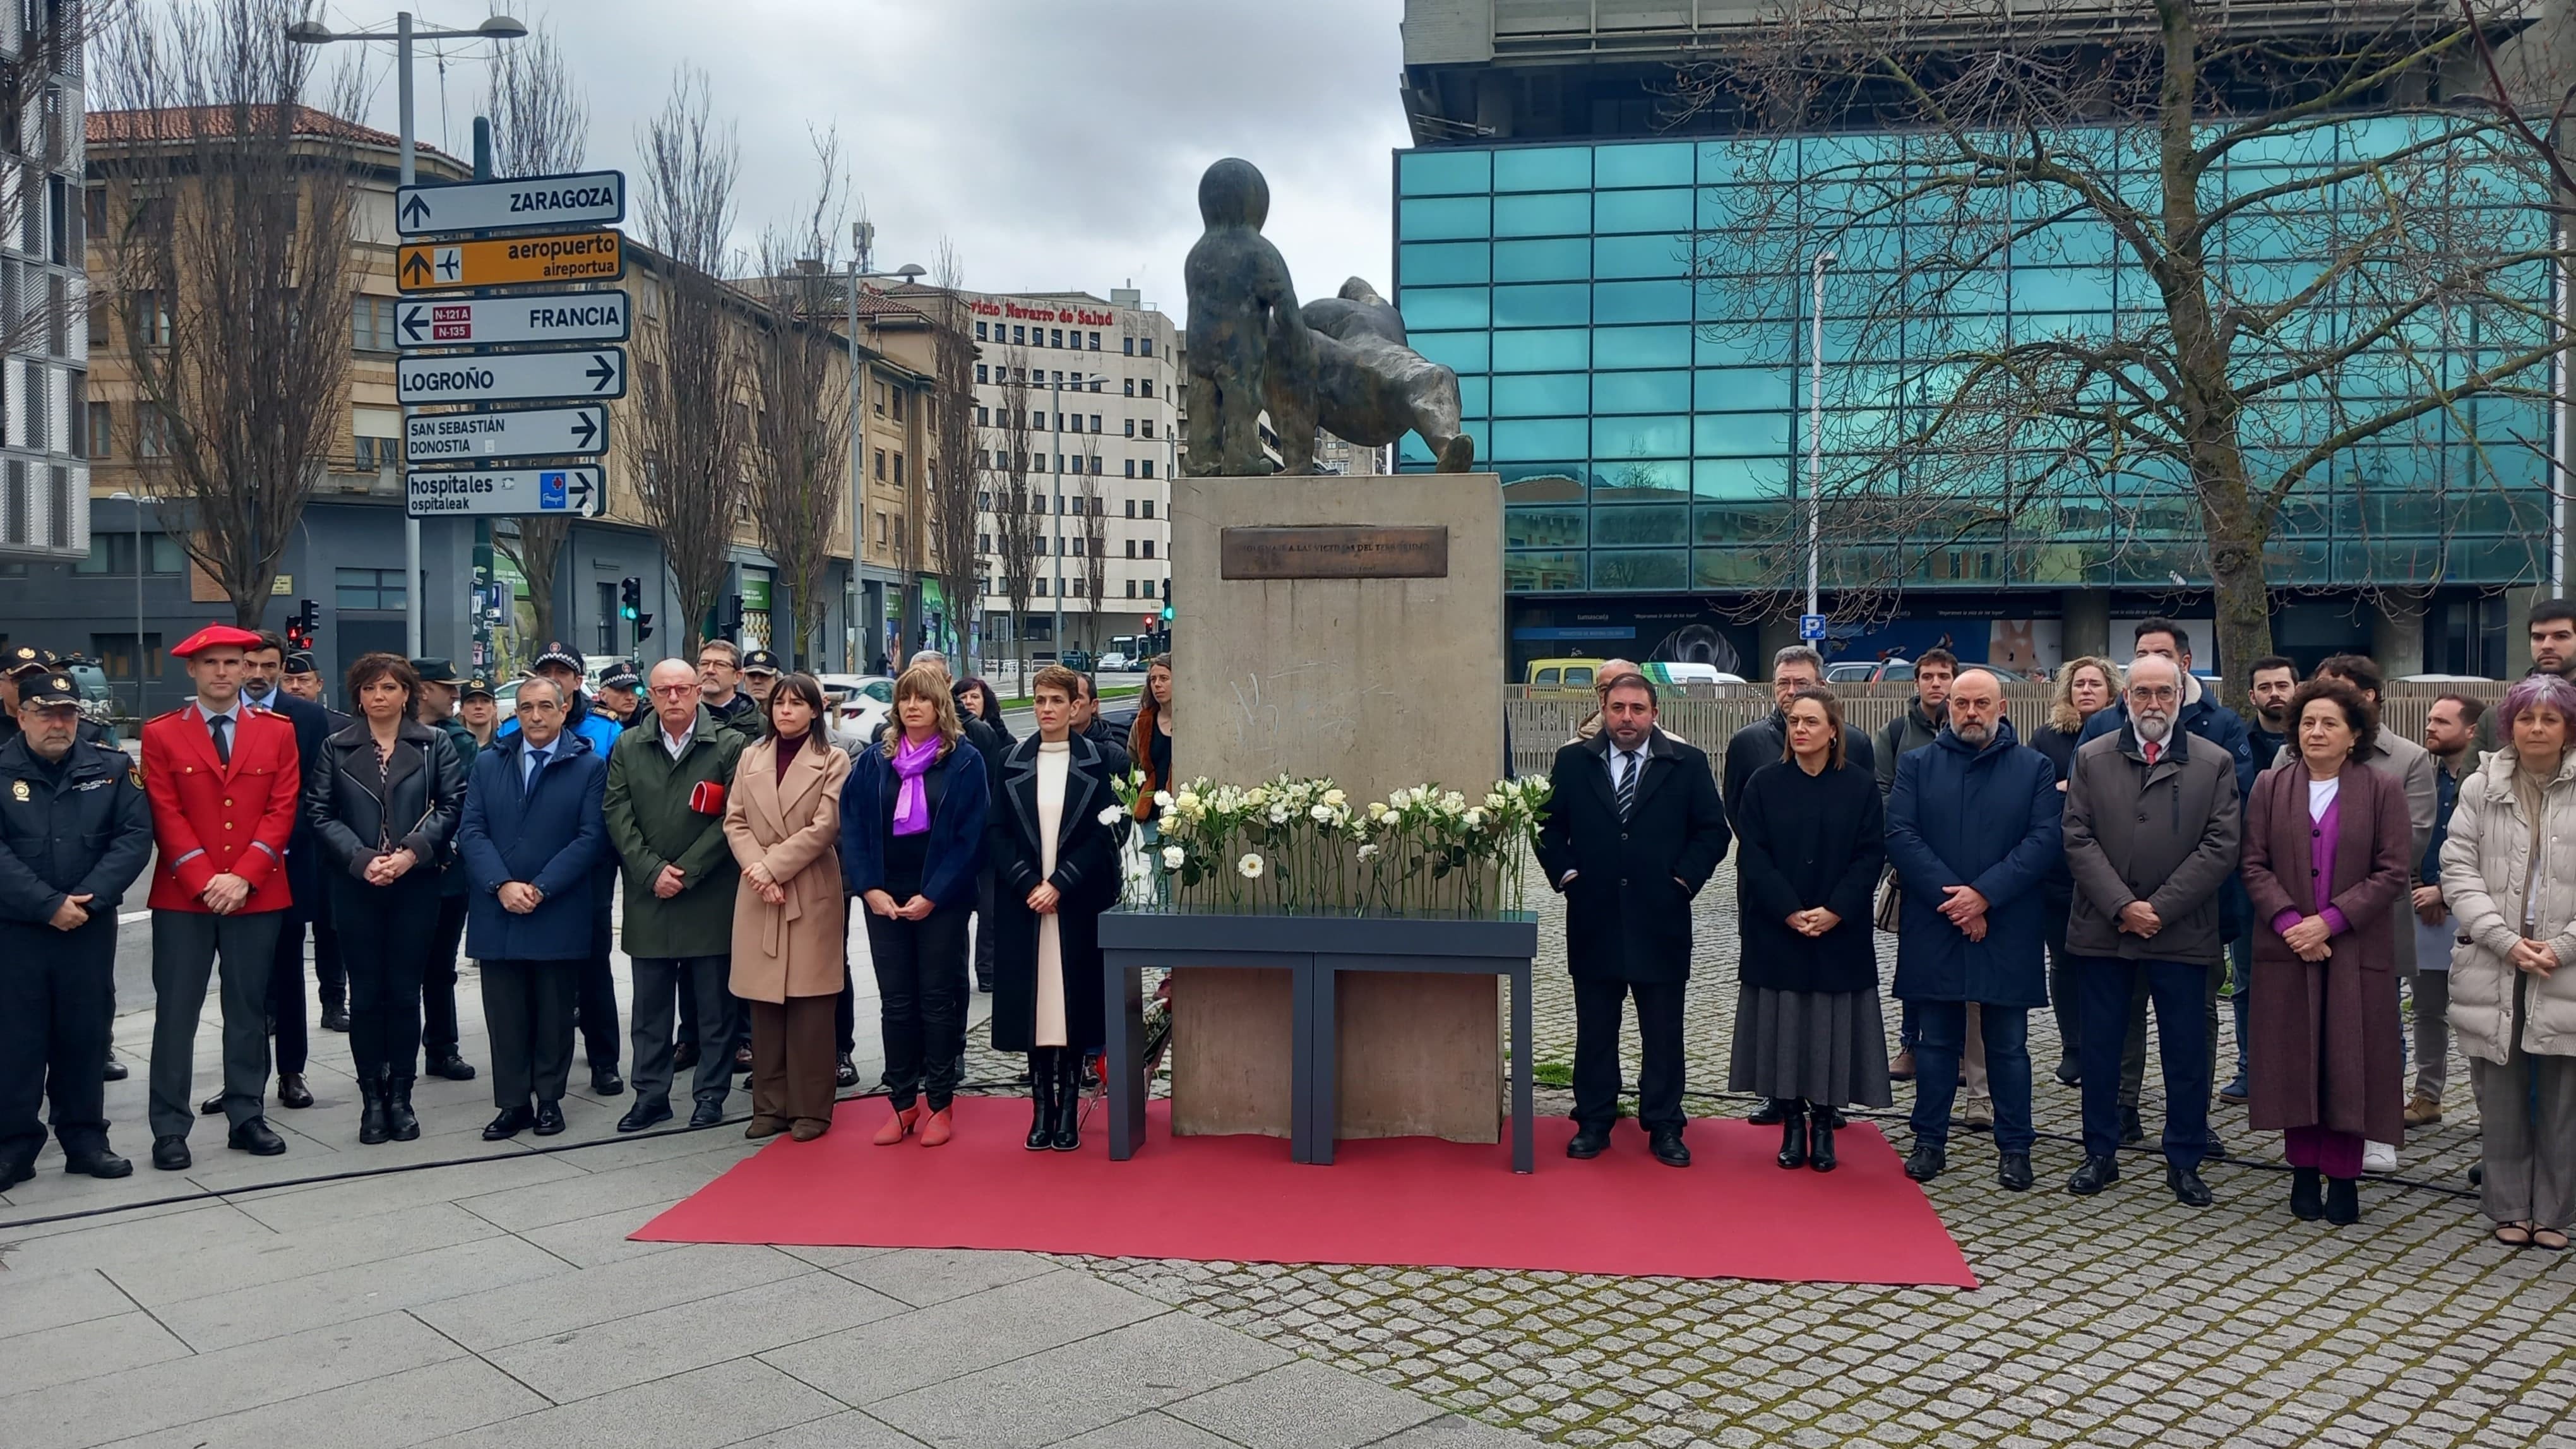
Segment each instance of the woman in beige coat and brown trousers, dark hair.
[{"label": "woman in beige coat and brown trousers, dark hair", "polygon": [[840,786],[822,683],[791,673],[770,691],[760,743],[742,750],[724,802],[734,887],[734,995],[752,1008],[752,1124],[744,1137],[832,1127],[832,1011],[850,897],[840,890]]}]

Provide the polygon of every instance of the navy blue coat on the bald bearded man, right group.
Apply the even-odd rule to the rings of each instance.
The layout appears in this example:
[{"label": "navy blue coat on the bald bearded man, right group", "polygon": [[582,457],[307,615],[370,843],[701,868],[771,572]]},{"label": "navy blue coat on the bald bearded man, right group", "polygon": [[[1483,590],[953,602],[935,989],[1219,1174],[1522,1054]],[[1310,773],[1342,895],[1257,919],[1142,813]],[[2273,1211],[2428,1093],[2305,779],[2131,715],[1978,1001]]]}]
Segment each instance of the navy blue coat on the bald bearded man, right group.
[{"label": "navy blue coat on the bald bearded man, right group", "polygon": [[[1896,761],[1888,861],[1904,892],[1899,1000],[2048,1006],[2048,900],[2061,853],[2058,768],[1996,719],[1984,750],[1942,727]],[[1947,887],[1986,897],[1986,938],[1940,913]]]}]

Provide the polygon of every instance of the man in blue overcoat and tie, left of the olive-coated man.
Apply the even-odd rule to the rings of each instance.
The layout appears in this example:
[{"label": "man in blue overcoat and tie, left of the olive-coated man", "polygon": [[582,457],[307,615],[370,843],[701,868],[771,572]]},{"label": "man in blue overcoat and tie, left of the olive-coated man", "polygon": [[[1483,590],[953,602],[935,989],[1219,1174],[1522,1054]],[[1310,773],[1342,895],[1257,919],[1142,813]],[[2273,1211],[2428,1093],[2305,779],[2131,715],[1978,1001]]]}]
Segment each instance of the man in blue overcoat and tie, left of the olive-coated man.
[{"label": "man in blue overcoat and tie, left of the olive-coated man", "polygon": [[456,848],[466,895],[466,951],[482,964],[492,1026],[492,1104],[484,1142],[564,1129],[572,1078],[572,1000],[590,959],[590,871],[608,853],[600,812],[608,761],[564,730],[564,688],[518,686],[518,732],[474,758]]}]

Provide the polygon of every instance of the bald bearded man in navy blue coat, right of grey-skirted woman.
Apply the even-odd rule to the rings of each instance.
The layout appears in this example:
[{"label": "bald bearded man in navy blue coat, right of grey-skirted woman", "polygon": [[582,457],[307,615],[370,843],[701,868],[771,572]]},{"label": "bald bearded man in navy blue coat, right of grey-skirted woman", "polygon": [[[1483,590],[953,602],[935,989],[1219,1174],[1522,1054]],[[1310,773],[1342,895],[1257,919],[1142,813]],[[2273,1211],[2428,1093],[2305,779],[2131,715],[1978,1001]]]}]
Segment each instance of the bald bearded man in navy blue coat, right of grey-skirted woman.
[{"label": "bald bearded man in navy blue coat, right of grey-skirted woman", "polygon": [[[2107,709],[2102,714],[2110,714]],[[1888,864],[1904,892],[1896,998],[1914,1006],[1914,1155],[1927,1183],[1947,1165],[1968,1003],[1981,1006],[1994,1088],[1996,1181],[2030,1186],[2030,1008],[2048,1006],[2048,908],[2040,882],[2061,848],[2058,768],[2004,719],[1986,670],[1950,683],[1950,722],[1896,763]]]}]

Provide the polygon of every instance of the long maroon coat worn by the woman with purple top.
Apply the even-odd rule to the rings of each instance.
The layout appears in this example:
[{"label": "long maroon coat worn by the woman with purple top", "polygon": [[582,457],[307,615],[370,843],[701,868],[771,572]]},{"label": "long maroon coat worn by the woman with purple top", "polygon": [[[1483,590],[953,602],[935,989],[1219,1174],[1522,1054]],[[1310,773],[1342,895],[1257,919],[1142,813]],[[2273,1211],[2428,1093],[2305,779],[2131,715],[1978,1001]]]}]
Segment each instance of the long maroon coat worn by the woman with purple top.
[{"label": "long maroon coat worn by the woman with purple top", "polygon": [[[2308,766],[2290,761],[2254,781],[2246,812],[2246,895],[2254,897],[2254,998],[2246,1034],[2259,1132],[2329,1127],[2370,1142],[2406,1140],[2406,1073],[2398,1062],[2398,975],[2388,913],[2411,879],[2414,820],[2403,781],[2352,761],[2336,776],[2342,830],[2334,879],[2313,877]],[[2300,962],[2272,918],[2282,910],[2344,913],[2349,931],[2324,962]]]}]

